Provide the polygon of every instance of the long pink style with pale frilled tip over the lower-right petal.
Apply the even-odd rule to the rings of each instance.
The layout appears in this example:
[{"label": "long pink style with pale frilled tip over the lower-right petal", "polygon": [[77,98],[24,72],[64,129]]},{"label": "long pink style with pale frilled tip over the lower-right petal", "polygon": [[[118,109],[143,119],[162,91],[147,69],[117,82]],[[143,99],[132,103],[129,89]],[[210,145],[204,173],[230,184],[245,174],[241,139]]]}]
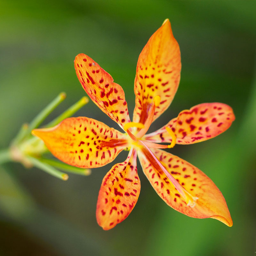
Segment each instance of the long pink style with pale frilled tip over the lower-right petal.
[{"label": "long pink style with pale frilled tip over the lower-right petal", "polygon": [[156,164],[161,168],[161,170],[164,172],[167,178],[172,182],[172,185],[179,191],[180,195],[184,198],[187,205],[192,208],[195,207],[196,200],[198,199],[198,197],[192,196],[190,193],[188,193],[188,191],[180,185],[180,183],[172,176],[172,174],[165,169],[163,164],[156,158],[154,153],[148,148],[148,146],[144,143],[144,141],[142,140],[139,140],[139,141],[143,146],[145,146],[145,149],[153,157],[153,159],[156,161]]}]

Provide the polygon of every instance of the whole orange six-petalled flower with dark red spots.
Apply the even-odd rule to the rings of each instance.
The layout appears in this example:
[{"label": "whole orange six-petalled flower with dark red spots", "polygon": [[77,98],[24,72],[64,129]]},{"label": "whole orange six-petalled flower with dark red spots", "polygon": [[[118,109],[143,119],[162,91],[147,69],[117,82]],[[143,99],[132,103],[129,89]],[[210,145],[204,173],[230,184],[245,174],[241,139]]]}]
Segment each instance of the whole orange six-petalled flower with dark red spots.
[{"label": "whole orange six-petalled flower with dark red spots", "polygon": [[[226,201],[212,180],[192,164],[160,149],[219,135],[235,120],[232,108],[216,102],[199,104],[146,134],[150,124],[171,104],[180,81],[180,49],[170,21],[164,21],[140,53],[133,122],[122,87],[98,63],[78,54],[75,69],[92,101],[126,133],[92,118],[73,117],[52,128],[36,129],[33,134],[44,140],[61,161],[83,168],[108,164],[120,151],[130,148],[127,159],[114,164],[102,181],[96,210],[98,224],[105,230],[115,227],[137,203],[138,155],[143,172],[166,204],[190,217],[213,218],[232,226]],[[158,144],[162,142],[170,145]]]}]

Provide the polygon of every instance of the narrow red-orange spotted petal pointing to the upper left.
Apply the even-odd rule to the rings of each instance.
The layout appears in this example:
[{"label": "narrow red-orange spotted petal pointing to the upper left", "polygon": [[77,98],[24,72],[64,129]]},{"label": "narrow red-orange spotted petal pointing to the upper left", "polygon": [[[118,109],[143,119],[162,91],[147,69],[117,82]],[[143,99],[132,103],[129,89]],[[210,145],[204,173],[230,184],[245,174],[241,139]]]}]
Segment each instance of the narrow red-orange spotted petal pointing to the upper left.
[{"label": "narrow red-orange spotted petal pointing to the upper left", "polygon": [[120,127],[130,122],[124,90],[112,76],[83,53],[74,62],[78,80],[92,101]]}]

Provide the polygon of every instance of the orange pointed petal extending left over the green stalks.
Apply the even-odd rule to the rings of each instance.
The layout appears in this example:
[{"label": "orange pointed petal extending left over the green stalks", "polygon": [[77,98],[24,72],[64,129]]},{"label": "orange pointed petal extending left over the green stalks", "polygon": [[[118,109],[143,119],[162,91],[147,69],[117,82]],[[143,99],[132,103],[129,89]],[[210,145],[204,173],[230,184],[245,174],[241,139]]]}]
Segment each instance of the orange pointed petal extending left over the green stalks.
[{"label": "orange pointed petal extending left over the green stalks", "polygon": [[61,161],[82,168],[100,167],[112,162],[127,147],[123,133],[95,119],[72,117],[34,135]]}]

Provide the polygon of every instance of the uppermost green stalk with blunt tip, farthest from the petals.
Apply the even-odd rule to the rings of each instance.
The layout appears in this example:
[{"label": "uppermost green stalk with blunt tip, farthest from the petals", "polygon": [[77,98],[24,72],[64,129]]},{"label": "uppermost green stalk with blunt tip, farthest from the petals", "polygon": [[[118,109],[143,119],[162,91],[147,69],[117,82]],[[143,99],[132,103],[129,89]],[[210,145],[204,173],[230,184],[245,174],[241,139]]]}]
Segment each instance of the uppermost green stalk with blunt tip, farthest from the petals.
[{"label": "uppermost green stalk with blunt tip, farthest from the petals", "polygon": [[28,131],[26,135],[30,134],[31,131],[37,128],[44,119],[55,109],[64,99],[66,98],[66,93],[61,92],[52,102],[46,106],[29,124]]}]

